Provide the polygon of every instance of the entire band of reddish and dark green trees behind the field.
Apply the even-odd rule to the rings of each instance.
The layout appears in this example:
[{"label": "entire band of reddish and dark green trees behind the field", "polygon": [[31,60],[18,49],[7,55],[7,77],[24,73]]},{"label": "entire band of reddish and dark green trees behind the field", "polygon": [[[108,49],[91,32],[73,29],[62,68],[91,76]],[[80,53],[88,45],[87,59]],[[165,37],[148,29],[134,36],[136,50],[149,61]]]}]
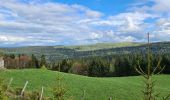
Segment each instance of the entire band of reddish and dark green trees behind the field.
[{"label": "entire band of reddish and dark green trees behind the field", "polygon": [[[147,65],[146,54],[116,54],[112,56],[96,56],[75,59],[63,59],[48,62],[45,55],[37,58],[25,54],[4,55],[5,67],[8,69],[42,68],[59,70],[61,72],[73,73],[92,77],[134,76],[138,75],[134,67],[140,60],[140,66]],[[170,74],[170,54],[153,54],[152,65],[156,67],[158,58],[161,58],[161,66],[165,66],[163,73]],[[146,67],[142,67],[146,70]]]}]

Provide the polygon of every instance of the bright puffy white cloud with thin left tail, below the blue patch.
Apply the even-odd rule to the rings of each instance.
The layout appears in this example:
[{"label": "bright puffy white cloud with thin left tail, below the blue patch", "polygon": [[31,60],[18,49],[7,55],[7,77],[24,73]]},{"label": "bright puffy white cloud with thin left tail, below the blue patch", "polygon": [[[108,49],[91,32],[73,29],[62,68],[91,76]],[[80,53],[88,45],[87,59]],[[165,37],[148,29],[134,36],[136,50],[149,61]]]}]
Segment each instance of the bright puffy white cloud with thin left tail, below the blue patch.
[{"label": "bright puffy white cloud with thin left tail, below the blue patch", "polygon": [[[81,20],[80,23],[88,24],[91,26],[104,27],[106,30],[113,30],[117,36],[136,36],[140,35],[146,28],[148,24],[145,23],[146,19],[156,18],[152,14],[140,13],[140,12],[126,12],[120,13],[114,16],[110,16],[107,19],[97,19],[97,20]],[[143,32],[144,33],[144,32]],[[143,35],[143,33],[141,35]]]}]

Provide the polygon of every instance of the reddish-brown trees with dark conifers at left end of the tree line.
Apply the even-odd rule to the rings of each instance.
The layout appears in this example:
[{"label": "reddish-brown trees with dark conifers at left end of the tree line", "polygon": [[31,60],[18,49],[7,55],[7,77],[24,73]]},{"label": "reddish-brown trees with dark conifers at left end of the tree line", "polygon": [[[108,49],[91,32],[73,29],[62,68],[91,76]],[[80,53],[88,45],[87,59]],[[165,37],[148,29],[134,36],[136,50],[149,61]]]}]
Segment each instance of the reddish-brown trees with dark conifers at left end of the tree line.
[{"label": "reddish-brown trees with dark conifers at left end of the tree line", "polygon": [[45,55],[38,59],[34,54],[4,54],[4,67],[7,69],[41,68],[47,66]]}]

